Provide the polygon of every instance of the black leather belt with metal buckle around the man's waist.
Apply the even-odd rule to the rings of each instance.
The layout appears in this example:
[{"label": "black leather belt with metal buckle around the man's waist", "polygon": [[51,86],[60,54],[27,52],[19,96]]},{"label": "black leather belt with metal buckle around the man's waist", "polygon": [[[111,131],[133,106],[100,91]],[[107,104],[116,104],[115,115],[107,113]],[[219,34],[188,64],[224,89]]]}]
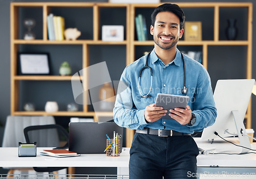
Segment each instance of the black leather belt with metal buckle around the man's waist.
[{"label": "black leather belt with metal buckle around the man's waist", "polygon": [[173,131],[173,130],[162,130],[162,129],[156,130],[156,129],[150,129],[150,128],[145,128],[143,130],[136,130],[136,133],[158,135],[159,137],[190,136],[191,135],[188,133],[179,133],[179,132]]}]

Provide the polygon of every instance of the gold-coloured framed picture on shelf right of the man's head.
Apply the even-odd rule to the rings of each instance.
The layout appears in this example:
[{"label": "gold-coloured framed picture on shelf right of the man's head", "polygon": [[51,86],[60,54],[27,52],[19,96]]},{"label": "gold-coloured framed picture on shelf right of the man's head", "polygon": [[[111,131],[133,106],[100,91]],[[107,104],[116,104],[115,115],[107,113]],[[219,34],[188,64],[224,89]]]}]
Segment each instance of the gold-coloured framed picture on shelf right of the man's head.
[{"label": "gold-coloured framed picture on shelf right of the man's head", "polygon": [[202,40],[202,22],[185,22],[184,40]]}]

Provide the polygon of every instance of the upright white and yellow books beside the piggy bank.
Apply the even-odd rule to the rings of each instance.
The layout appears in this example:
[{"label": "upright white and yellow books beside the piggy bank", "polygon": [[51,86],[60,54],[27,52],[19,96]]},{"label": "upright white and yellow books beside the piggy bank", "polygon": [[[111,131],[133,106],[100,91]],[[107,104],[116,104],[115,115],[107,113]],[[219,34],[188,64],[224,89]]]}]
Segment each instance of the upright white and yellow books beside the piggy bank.
[{"label": "upright white and yellow books beside the piggy bank", "polygon": [[65,20],[52,13],[47,16],[47,29],[49,40],[64,40]]}]

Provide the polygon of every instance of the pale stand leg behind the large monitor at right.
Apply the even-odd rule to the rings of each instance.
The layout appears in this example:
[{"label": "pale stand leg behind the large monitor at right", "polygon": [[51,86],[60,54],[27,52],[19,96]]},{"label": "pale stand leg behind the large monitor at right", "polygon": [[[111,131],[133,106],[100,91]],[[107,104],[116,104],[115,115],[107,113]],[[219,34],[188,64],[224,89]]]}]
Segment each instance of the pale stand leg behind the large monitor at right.
[{"label": "pale stand leg behind the large monitor at right", "polygon": [[[247,148],[251,148],[251,143],[249,141],[248,136],[243,136],[242,135],[242,131],[243,131],[243,134],[245,134],[245,135],[247,135],[247,133],[246,133],[246,130],[245,130],[243,120],[241,120],[241,115],[240,115],[239,111],[238,110],[232,111],[232,114],[233,114],[233,117],[234,117],[234,123],[235,123],[236,128],[237,128],[240,145],[242,145],[244,147],[247,147]],[[250,151],[249,149],[244,148],[244,147],[241,147],[242,150],[241,150],[240,154],[243,154],[243,153],[246,153],[246,152]]]}]

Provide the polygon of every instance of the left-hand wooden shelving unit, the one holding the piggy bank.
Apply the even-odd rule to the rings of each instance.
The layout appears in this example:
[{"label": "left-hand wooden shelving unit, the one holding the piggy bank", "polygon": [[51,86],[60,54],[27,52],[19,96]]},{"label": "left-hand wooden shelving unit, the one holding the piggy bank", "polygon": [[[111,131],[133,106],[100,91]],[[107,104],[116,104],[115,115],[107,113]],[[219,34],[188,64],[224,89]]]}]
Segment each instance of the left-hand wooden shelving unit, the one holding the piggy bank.
[{"label": "left-hand wooden shelving unit, the one holding the piggy bank", "polygon": [[[35,40],[23,40],[18,37],[18,11],[21,7],[40,7],[42,8],[43,18],[43,38]],[[53,7],[91,7],[93,8],[93,40],[75,40],[75,41],[50,41],[47,34],[47,15],[51,13]],[[18,46],[24,44],[40,44],[40,45],[82,45],[82,68],[89,66],[89,49],[88,45],[125,45],[126,51],[129,52],[129,42],[124,40],[121,42],[106,42],[99,39],[99,17],[100,8],[125,8],[126,9],[126,26],[129,26],[130,16],[129,5],[126,4],[109,4],[109,3],[11,3],[11,114],[12,115],[54,115],[54,116],[93,116],[96,117],[94,112],[88,111],[88,106],[84,105],[81,112],[56,112],[49,114],[43,111],[25,112],[18,109],[18,90],[19,81],[71,81],[72,76],[58,76],[58,75],[18,75],[17,74],[17,57]],[[126,30],[126,39],[129,38],[129,30]],[[129,59],[129,53],[126,55],[126,59]],[[126,63],[128,64],[128,63]],[[77,80],[79,80],[77,78]],[[83,79],[87,83],[87,79]],[[113,115],[110,113],[103,113],[106,116]],[[96,120],[96,118],[95,118]]]}]

